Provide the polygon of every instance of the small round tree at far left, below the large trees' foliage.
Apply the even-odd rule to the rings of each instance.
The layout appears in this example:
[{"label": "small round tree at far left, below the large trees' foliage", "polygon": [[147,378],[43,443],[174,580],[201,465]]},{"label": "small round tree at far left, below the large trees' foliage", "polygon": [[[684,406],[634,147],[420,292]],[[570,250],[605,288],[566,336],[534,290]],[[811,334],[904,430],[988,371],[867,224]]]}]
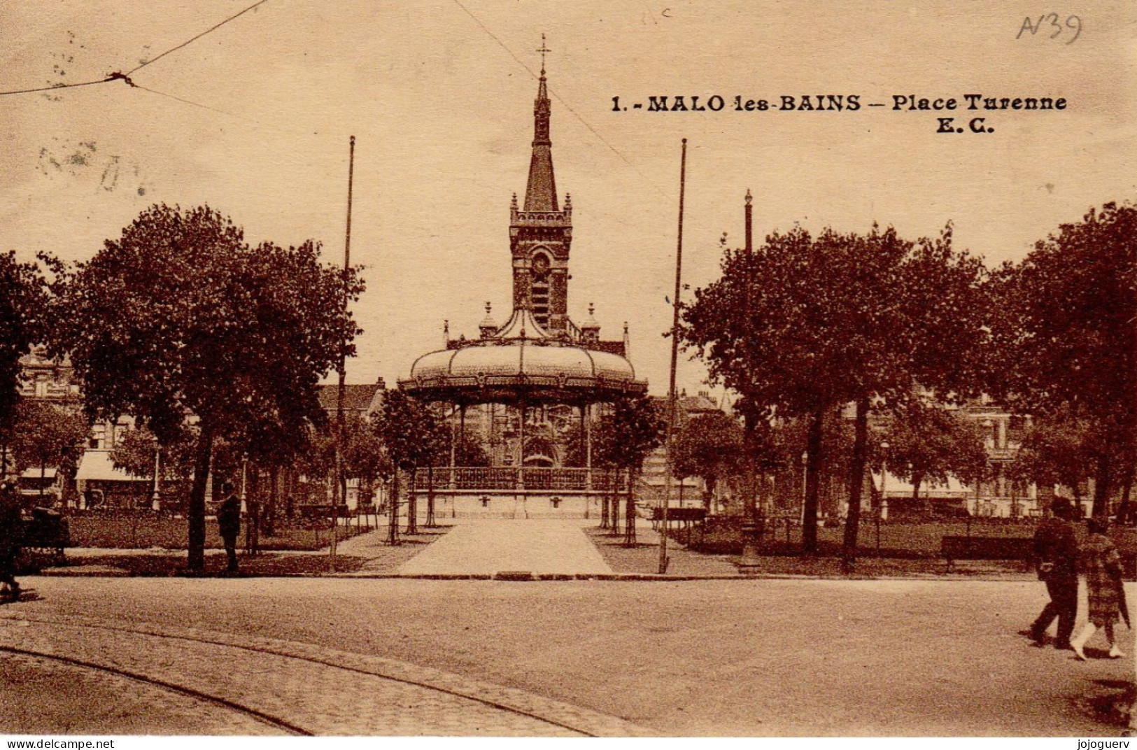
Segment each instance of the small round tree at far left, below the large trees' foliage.
[{"label": "small round tree at far left, below the large trees' foliage", "polygon": [[22,399],[16,408],[13,453],[17,467],[40,468],[40,502],[49,466],[74,477],[91,427],[81,415],[42,401]]}]

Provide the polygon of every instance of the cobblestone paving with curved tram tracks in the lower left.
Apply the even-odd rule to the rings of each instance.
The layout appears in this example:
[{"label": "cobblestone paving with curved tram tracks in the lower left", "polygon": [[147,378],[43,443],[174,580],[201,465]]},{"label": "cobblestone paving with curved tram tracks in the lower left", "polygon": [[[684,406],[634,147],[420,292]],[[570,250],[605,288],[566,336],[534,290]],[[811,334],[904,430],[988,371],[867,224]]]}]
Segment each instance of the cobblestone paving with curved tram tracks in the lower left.
[{"label": "cobblestone paving with curved tram tracks in the lower left", "polygon": [[[60,686],[67,685],[68,692],[88,700],[86,686],[76,689],[72,682],[75,676],[81,684],[115,684],[131,700],[144,700],[151,717],[147,724],[136,710],[126,708],[83,717],[75,725],[82,706],[56,700],[55,705],[68,709],[58,711],[57,732],[75,727],[93,733],[149,733],[157,725],[164,732],[194,734],[290,730],[316,735],[642,733],[595,711],[389,659],[169,626],[0,617],[0,669],[13,686],[26,678],[18,674],[34,674],[57,698]],[[60,673],[68,673],[68,680],[53,681]],[[124,723],[127,716],[131,720]],[[42,711],[36,720],[26,719],[22,711],[5,711],[0,731],[27,734],[50,726]]]}]

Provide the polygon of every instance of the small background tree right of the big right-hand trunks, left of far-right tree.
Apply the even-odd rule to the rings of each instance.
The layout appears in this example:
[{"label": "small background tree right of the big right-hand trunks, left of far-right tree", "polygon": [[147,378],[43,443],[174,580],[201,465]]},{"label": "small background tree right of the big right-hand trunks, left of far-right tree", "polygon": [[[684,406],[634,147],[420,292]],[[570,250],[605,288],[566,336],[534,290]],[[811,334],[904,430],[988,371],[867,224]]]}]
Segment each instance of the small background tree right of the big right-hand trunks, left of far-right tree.
[{"label": "small background tree right of the big right-hand trunks, left of far-right tree", "polygon": [[889,443],[885,468],[912,483],[913,500],[919,500],[924,483],[946,484],[949,476],[974,481],[987,466],[979,425],[938,405],[902,405],[883,439]]}]

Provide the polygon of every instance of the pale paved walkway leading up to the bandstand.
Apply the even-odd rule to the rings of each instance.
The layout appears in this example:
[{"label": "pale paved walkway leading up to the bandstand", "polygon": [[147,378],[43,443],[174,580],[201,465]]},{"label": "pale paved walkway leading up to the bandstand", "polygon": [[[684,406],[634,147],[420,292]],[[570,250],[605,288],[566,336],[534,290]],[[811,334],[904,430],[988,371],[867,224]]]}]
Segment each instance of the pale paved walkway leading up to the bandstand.
[{"label": "pale paved walkway leading up to the bandstand", "polygon": [[458,518],[450,532],[405,562],[405,575],[598,574],[612,568],[584,534],[581,518]]}]

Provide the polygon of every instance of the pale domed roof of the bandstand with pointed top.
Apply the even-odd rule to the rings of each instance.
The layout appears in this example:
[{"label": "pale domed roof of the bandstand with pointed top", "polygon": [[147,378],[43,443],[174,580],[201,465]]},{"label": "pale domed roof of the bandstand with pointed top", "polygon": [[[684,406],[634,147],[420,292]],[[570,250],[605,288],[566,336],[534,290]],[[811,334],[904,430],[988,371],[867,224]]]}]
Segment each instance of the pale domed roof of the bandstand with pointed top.
[{"label": "pale domed roof of the bandstand with pointed top", "polygon": [[551,335],[525,308],[491,338],[423,355],[399,386],[455,403],[586,403],[647,390],[626,358]]}]

